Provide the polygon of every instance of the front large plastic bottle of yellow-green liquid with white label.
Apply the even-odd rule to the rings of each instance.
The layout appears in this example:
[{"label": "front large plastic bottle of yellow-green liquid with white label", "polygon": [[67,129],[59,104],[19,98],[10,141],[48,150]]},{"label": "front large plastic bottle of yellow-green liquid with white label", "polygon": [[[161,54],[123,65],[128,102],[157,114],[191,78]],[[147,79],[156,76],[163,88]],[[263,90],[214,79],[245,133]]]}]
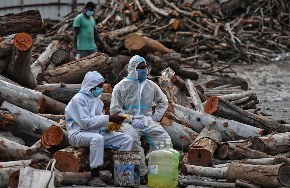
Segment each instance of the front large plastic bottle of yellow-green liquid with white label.
[{"label": "front large plastic bottle of yellow-green liquid with white label", "polygon": [[159,150],[152,151],[148,161],[149,187],[166,187],[172,185],[173,153],[164,149],[164,142],[160,142]]}]

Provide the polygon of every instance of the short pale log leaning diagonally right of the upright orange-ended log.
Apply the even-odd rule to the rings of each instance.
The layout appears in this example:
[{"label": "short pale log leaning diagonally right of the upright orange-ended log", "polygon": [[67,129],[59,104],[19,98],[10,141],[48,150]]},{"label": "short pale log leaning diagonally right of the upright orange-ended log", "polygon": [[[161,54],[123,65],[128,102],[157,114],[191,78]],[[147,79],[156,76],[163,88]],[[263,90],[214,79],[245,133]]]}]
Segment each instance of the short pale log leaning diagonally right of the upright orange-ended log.
[{"label": "short pale log leaning diagonally right of the upright orange-ended log", "polygon": [[54,44],[49,44],[43,53],[36,59],[35,62],[33,62],[30,66],[33,75],[35,78],[39,73],[42,73],[45,71],[49,64],[49,59],[52,56],[52,54],[57,50],[57,46]]}]

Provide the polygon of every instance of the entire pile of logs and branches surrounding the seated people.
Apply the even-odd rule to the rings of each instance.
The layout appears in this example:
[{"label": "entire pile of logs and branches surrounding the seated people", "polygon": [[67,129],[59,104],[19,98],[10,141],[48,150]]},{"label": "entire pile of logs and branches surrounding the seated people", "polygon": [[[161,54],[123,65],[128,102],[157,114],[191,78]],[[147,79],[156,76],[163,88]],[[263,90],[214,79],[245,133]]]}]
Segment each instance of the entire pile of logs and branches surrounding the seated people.
[{"label": "entire pile of logs and branches surrounding the seated people", "polygon": [[[194,69],[235,74],[231,64],[264,63],[289,52],[289,6],[286,0],[108,1],[93,16],[112,51],[98,44],[99,52],[78,60],[72,24],[81,11],[61,21],[42,21],[38,10],[1,16],[0,188],[17,187],[20,167],[44,169],[50,158],[57,160],[55,186],[86,185],[90,174],[80,172],[90,170],[89,149],[70,146],[64,109],[84,75],[98,71],[106,81],[101,100],[108,114],[112,90],[136,54],[168,98],[160,125],[180,151],[181,173],[227,180],[184,183],[289,186],[289,124],[264,118],[258,96],[242,79],[221,77],[204,88],[192,82],[199,76]],[[162,74],[165,68],[175,74]],[[150,151],[145,142],[142,147]],[[112,152],[105,149],[101,170],[113,172]],[[104,180],[111,175],[105,171]]]}]

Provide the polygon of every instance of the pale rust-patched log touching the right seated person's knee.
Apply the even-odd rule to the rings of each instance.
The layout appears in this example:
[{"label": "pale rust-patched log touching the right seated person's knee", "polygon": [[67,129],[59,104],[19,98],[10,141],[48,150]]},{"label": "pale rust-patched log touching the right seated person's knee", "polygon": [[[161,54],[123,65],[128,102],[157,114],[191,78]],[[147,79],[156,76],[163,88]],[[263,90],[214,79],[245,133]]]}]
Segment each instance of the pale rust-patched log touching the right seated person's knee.
[{"label": "pale rust-patched log touching the right seated person's knee", "polygon": [[198,133],[192,129],[174,122],[165,113],[160,123],[163,129],[169,134],[173,147],[188,152],[189,146],[194,142]]}]

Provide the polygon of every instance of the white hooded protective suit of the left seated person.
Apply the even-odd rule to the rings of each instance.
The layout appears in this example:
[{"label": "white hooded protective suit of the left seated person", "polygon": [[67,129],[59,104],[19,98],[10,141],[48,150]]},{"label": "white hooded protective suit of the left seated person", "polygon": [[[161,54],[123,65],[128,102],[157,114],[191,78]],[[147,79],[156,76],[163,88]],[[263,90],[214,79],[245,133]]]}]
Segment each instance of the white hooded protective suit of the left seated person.
[{"label": "white hooded protective suit of the left seated person", "polygon": [[90,148],[90,167],[103,165],[104,147],[118,151],[131,151],[132,138],[120,132],[108,132],[109,115],[103,115],[104,103],[94,97],[91,88],[104,82],[100,73],[88,72],[81,90],[72,98],[65,109],[66,129],[69,143],[74,147]]}]

